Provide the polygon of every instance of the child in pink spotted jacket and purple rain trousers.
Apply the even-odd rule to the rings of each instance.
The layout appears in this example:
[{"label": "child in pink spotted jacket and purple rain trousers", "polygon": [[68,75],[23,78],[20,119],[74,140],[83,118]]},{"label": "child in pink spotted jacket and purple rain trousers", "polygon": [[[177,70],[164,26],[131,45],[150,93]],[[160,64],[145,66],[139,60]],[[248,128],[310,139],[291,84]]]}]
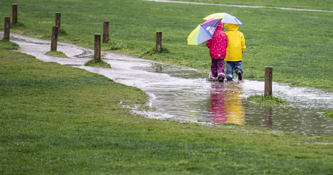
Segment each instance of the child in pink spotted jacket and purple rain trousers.
[{"label": "child in pink spotted jacket and purple rain trousers", "polygon": [[209,48],[211,58],[211,76],[218,78],[219,82],[224,82],[224,58],[228,47],[228,37],[223,32],[222,22],[218,24],[213,37],[206,41],[206,46]]}]

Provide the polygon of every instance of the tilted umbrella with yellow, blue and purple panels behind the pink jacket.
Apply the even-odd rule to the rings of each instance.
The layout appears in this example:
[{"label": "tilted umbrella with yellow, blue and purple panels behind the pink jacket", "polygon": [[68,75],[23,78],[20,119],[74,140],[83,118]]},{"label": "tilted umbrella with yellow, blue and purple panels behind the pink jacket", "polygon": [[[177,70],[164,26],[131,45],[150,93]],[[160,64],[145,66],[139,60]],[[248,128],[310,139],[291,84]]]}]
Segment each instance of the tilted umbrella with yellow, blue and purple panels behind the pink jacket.
[{"label": "tilted umbrella with yellow, blue and purple panels behind the pink jacket", "polygon": [[199,45],[214,35],[216,27],[222,18],[208,19],[202,24],[199,24],[187,37],[188,45]]}]

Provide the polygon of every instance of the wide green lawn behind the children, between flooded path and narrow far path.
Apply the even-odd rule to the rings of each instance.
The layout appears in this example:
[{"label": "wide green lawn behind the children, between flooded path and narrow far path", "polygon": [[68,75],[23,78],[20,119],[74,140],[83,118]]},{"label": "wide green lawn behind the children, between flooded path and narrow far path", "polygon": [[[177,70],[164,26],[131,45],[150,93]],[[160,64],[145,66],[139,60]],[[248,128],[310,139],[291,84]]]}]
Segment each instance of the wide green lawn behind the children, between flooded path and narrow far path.
[{"label": "wide green lawn behind the children, between flooded path and narrow far path", "polygon": [[[12,0],[0,2],[0,16],[11,14],[12,3]],[[63,33],[58,40],[93,48],[94,34],[103,33],[103,21],[109,20],[112,42],[102,44],[102,50],[207,72],[208,48],[204,44],[187,46],[186,38],[203,22],[203,17],[226,10],[246,24],[239,29],[247,46],[243,55],[245,79],[263,81],[264,67],[273,66],[275,82],[333,91],[333,71],[328,71],[333,67],[332,13],[137,0],[17,0],[15,3],[19,4],[19,22],[24,26],[13,27],[14,33],[50,39],[55,12],[60,11]],[[155,47],[156,31],[163,31],[162,42],[170,53],[145,54]]]}]

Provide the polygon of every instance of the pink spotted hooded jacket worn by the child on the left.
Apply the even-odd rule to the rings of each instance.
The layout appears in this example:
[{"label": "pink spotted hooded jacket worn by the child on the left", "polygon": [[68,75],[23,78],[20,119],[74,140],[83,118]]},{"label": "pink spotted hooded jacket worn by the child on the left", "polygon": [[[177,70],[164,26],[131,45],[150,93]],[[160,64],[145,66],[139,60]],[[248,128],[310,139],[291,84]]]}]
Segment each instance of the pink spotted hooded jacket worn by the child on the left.
[{"label": "pink spotted hooded jacket worn by the child on the left", "polygon": [[223,23],[220,22],[213,37],[206,41],[209,48],[209,55],[213,59],[224,59],[228,47],[228,37],[223,32]]}]

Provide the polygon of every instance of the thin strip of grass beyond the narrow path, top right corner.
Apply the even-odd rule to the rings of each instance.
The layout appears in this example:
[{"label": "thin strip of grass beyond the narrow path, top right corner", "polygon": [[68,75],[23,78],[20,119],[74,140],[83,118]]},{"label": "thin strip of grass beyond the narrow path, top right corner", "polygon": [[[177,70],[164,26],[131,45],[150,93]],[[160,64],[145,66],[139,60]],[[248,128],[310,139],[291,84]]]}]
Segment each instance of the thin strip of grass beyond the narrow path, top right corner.
[{"label": "thin strip of grass beyond the narrow path, top right corner", "polygon": [[333,10],[333,2],[330,0],[176,0],[176,1],[191,1],[191,2],[207,2],[217,4],[237,4],[237,5],[260,5],[273,7],[292,7],[292,8],[307,8],[320,10]]}]

